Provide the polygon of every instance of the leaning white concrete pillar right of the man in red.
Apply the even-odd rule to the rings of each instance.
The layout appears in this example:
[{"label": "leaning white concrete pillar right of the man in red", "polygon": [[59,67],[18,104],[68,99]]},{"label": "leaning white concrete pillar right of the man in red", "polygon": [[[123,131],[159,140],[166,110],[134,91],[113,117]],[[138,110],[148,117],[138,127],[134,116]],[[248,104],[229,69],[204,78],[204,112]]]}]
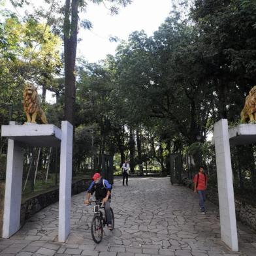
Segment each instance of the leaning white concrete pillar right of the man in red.
[{"label": "leaning white concrete pillar right of the man in red", "polygon": [[216,150],[221,240],[233,251],[238,251],[231,152],[226,119],[219,120],[214,124],[214,144]]}]

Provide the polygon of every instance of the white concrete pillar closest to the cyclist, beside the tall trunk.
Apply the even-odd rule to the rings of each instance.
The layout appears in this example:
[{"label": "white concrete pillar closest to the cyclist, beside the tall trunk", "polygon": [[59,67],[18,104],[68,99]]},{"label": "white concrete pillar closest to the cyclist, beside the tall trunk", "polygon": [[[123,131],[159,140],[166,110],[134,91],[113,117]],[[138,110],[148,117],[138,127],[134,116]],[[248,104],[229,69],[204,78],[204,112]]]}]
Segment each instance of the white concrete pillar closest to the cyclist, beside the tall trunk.
[{"label": "white concrete pillar closest to the cyclist, beside the tall trunk", "polygon": [[59,170],[59,242],[65,242],[71,229],[73,127],[61,121],[61,157]]}]

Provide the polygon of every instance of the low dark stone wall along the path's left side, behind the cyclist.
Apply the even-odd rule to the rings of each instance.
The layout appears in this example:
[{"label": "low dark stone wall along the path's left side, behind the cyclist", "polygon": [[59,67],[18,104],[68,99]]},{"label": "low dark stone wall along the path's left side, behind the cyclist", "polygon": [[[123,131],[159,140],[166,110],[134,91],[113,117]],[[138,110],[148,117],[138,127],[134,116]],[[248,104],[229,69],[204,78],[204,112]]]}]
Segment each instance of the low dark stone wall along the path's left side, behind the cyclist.
[{"label": "low dark stone wall along the path's left side, behind the cyclist", "polygon": [[[76,195],[88,189],[91,180],[76,180],[72,182],[72,195]],[[33,214],[42,210],[50,204],[54,204],[59,200],[59,188],[55,187],[42,191],[32,197],[22,199],[22,206],[20,210],[20,225],[24,225],[25,221]]]}]

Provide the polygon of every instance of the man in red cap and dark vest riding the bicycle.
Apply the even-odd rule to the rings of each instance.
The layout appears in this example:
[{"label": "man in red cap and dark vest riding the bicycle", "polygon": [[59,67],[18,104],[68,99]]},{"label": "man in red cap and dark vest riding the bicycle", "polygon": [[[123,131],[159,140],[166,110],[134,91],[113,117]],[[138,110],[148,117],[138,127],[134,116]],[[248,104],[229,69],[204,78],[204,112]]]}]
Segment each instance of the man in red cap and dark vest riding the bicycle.
[{"label": "man in red cap and dark vest riding the bicycle", "polygon": [[106,223],[110,230],[112,230],[112,218],[110,212],[111,189],[112,185],[109,184],[107,180],[103,180],[101,174],[96,172],[93,175],[93,182],[91,182],[91,185],[89,186],[87,197],[84,202],[85,204],[89,204],[89,199],[95,192],[95,199],[103,202],[106,211]]}]

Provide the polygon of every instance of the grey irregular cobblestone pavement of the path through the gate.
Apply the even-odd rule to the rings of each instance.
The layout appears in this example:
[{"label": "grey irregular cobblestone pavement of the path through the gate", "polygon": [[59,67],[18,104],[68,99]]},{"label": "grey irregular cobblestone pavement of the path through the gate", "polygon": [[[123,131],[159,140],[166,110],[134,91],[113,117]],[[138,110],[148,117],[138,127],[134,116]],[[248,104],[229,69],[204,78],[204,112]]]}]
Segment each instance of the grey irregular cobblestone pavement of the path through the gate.
[{"label": "grey irregular cobblestone pavement of the path through the gate", "polygon": [[256,255],[256,234],[238,224],[240,252],[229,251],[220,240],[217,207],[199,200],[186,187],[170,185],[169,178],[130,178],[129,186],[114,181],[114,231],[105,231],[101,244],[91,238],[93,206],[85,193],[72,197],[72,230],[65,244],[57,241],[58,204],[40,211],[10,239],[0,240],[0,256],[223,256]]}]

